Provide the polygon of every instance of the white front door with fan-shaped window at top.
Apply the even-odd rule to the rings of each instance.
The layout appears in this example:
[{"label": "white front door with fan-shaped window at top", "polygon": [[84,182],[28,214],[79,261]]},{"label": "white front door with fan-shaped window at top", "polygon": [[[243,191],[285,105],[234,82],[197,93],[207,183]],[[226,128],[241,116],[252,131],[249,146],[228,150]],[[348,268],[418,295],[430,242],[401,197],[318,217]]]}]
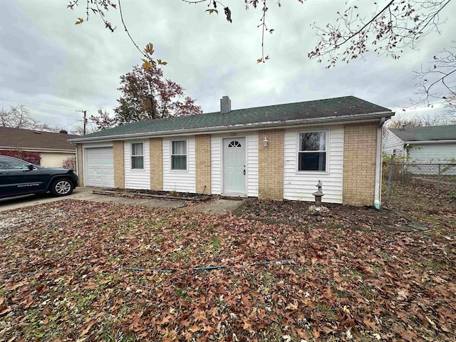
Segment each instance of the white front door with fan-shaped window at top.
[{"label": "white front door with fan-shaped window at top", "polygon": [[223,140],[223,192],[245,194],[245,138]]}]

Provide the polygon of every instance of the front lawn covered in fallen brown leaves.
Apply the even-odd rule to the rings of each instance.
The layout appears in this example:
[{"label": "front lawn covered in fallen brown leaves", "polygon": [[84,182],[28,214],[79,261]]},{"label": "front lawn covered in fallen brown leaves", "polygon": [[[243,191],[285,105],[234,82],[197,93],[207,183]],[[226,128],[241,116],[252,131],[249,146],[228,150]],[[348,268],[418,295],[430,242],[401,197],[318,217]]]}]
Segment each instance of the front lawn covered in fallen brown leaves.
[{"label": "front lawn covered in fallen brown leaves", "polygon": [[[0,341],[455,341],[452,234],[71,200],[2,212]],[[189,270],[214,265],[232,267]]]}]

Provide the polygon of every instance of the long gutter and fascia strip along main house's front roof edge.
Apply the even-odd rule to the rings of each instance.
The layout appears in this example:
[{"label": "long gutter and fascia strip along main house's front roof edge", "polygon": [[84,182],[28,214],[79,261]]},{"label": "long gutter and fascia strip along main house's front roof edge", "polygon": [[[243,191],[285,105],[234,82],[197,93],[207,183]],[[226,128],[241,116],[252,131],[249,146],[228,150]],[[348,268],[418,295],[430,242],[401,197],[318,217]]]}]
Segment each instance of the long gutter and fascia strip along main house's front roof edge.
[{"label": "long gutter and fascia strip along main house's front roof edge", "polygon": [[70,142],[96,142],[105,140],[119,140],[128,138],[144,138],[144,137],[160,137],[167,135],[190,135],[190,134],[203,134],[203,133],[218,133],[229,130],[257,130],[259,128],[277,128],[277,127],[291,127],[296,125],[318,125],[325,123],[353,123],[353,121],[373,121],[380,118],[390,118],[394,115],[392,111],[375,112],[375,113],[364,113],[359,115],[340,115],[340,116],[328,116],[326,118],[314,118],[314,119],[297,119],[297,120],[286,120],[286,121],[270,121],[264,123],[243,123],[239,125],[229,126],[215,126],[215,127],[204,127],[204,128],[189,128],[182,130],[165,130],[160,132],[142,132],[142,133],[130,133],[120,135],[105,135],[101,137],[93,138],[76,138],[70,139]]}]

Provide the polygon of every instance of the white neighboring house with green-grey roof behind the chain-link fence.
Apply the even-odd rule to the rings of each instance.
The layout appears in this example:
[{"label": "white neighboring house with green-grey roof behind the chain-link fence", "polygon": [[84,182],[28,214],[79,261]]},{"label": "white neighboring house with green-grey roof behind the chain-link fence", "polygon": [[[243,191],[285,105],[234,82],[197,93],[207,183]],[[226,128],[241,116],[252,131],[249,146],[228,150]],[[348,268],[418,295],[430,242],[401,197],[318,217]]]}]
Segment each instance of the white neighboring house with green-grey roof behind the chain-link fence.
[{"label": "white neighboring house with green-grey roof behind the chain-link fence", "polygon": [[456,158],[456,125],[390,128],[383,153],[407,156],[415,162]]}]

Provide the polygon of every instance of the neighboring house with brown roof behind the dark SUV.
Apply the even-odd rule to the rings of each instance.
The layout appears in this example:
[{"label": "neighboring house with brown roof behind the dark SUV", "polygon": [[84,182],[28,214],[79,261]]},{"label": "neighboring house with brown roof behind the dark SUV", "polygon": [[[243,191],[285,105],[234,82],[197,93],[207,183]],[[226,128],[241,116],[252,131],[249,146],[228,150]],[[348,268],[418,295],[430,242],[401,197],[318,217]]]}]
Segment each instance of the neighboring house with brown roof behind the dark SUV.
[{"label": "neighboring house with brown roof behind the dark SUV", "polygon": [[0,150],[38,152],[41,166],[62,167],[63,161],[76,155],[76,147],[68,139],[77,138],[66,130],[60,133],[0,127]]}]

